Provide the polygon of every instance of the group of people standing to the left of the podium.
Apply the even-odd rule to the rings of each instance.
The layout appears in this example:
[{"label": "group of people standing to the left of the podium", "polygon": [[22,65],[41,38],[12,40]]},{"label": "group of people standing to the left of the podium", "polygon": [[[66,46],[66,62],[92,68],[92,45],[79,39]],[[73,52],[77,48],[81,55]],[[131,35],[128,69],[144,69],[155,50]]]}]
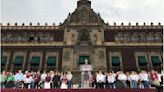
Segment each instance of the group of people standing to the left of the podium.
[{"label": "group of people standing to the left of the podium", "polygon": [[23,74],[21,70],[13,74],[12,72],[3,71],[0,74],[1,88],[72,88],[73,75],[70,71],[63,72],[28,72]]}]

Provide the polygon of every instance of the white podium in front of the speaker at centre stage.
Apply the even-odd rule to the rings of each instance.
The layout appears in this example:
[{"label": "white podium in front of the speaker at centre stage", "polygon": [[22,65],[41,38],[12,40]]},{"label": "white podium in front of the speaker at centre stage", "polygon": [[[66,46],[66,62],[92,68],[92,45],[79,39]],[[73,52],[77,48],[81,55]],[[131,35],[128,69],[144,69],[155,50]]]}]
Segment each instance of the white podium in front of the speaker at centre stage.
[{"label": "white podium in front of the speaker at centre stage", "polygon": [[91,77],[92,77],[91,71],[93,70],[92,65],[90,65],[90,64],[81,65],[80,66],[80,70],[81,70],[81,87],[82,88],[88,88],[89,87],[89,83],[88,83],[88,85],[86,85],[84,83],[84,81],[85,81],[84,80],[85,79],[84,77],[86,75],[88,75],[89,76],[89,80],[91,79]]}]

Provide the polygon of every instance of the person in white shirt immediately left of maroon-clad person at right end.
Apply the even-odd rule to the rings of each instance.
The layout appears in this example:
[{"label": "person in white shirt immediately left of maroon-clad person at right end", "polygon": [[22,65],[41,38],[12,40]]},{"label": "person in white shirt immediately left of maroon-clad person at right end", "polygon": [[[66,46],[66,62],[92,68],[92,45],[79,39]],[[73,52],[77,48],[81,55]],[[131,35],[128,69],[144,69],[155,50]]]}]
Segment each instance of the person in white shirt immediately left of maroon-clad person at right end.
[{"label": "person in white shirt immediately left of maroon-clad person at right end", "polygon": [[149,88],[149,75],[146,71],[141,71],[139,74],[139,79],[141,81],[141,85],[143,85],[144,88]]}]

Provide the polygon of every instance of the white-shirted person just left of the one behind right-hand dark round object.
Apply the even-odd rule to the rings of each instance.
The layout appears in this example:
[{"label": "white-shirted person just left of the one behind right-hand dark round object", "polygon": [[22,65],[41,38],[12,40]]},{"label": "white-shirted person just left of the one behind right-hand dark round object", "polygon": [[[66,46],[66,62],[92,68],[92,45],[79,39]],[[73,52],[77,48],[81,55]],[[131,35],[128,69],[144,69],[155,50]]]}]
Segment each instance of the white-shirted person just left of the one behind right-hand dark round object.
[{"label": "white-shirted person just left of the one behind right-hand dark round object", "polygon": [[110,72],[107,75],[107,82],[108,82],[108,86],[107,88],[114,88],[114,82],[116,81],[115,76]]}]

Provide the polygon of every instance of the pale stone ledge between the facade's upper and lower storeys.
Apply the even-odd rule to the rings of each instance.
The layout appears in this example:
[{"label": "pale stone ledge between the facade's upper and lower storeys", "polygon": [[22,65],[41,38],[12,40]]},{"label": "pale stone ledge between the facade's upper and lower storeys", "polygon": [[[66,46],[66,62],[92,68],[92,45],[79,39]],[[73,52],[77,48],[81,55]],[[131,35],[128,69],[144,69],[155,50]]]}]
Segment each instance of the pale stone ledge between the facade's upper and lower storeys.
[{"label": "pale stone ledge between the facade's upper and lower storeys", "polygon": [[[43,46],[43,47],[49,47],[49,46],[74,46],[72,44],[64,44],[63,42],[47,42],[47,43],[37,43],[37,42],[33,42],[33,43],[20,43],[20,42],[16,42],[16,43],[2,43],[1,42],[1,46]],[[138,46],[138,47],[142,47],[142,46],[163,46],[162,42],[131,42],[131,43],[118,43],[118,42],[105,42],[104,44],[96,44],[94,46],[129,46],[129,47],[134,47],[134,46]]]}]

